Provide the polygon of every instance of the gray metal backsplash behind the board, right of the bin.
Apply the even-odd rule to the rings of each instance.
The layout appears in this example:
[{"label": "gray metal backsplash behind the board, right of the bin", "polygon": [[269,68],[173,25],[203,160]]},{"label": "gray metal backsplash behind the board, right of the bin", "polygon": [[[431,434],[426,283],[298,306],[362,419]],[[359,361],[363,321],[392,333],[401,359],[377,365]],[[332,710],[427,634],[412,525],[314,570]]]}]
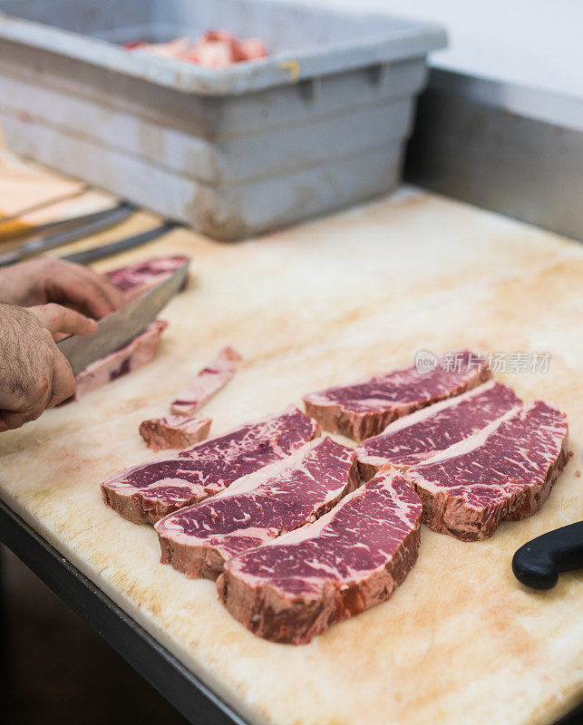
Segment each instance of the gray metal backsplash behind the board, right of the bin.
[{"label": "gray metal backsplash behind the board, right of the bin", "polygon": [[583,241],[583,100],[433,69],[405,178]]}]

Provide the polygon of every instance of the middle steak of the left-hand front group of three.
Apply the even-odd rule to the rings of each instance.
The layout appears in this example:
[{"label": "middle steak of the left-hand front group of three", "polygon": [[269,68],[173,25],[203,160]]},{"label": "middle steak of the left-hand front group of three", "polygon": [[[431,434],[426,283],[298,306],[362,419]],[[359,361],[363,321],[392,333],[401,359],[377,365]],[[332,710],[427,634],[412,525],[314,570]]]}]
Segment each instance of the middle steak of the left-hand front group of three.
[{"label": "middle steak of the left-hand front group of three", "polygon": [[232,556],[316,521],[359,484],[353,449],[327,437],[312,440],[208,501],[162,518],[162,564],[216,579]]}]

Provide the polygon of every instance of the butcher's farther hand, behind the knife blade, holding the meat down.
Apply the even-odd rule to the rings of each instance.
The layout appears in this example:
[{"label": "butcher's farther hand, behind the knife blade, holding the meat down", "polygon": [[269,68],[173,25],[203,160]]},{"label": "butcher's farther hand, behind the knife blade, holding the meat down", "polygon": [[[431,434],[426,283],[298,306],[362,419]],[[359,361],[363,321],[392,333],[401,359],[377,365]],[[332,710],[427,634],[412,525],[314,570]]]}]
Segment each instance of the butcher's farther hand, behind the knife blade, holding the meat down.
[{"label": "butcher's farther hand, behind the knife blade, holding the meat down", "polygon": [[0,300],[21,307],[55,302],[96,320],[125,304],[120,290],[102,275],[50,256],[0,269]]}]

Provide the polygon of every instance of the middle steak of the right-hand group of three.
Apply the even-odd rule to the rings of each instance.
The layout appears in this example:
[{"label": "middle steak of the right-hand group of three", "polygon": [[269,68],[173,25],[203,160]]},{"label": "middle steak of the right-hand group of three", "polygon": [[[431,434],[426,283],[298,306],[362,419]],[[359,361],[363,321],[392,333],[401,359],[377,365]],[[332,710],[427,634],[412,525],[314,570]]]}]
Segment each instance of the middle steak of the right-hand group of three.
[{"label": "middle steak of the right-hand group of three", "polygon": [[514,391],[492,380],[394,420],[380,435],[356,446],[360,474],[367,480],[386,463],[408,469],[469,438],[520,404]]}]

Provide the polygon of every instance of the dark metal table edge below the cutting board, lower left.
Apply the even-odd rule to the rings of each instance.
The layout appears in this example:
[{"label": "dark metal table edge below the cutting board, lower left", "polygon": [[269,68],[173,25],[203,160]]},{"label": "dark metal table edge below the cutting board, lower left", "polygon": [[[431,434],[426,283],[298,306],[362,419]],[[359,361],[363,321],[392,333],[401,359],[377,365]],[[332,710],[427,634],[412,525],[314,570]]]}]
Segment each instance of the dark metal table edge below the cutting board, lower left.
[{"label": "dark metal table edge below the cutting board, lower left", "polygon": [[189,722],[250,725],[2,501],[0,543],[10,548]]}]

